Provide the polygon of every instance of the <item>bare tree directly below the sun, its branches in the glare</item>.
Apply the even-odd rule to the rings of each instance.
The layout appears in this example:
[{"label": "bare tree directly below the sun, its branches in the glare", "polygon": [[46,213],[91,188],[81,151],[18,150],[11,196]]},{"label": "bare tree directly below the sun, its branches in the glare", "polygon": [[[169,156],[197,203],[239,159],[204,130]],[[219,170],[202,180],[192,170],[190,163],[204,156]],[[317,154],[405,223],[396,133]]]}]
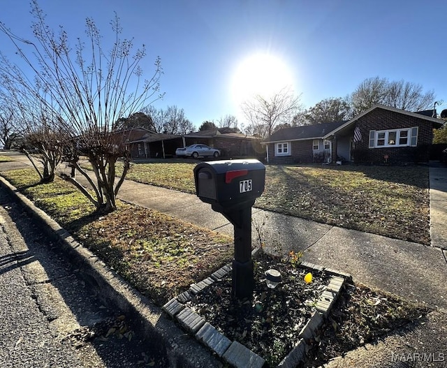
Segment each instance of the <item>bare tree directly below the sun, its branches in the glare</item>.
[{"label": "bare tree directly below the sun, its branches in the glare", "polygon": [[242,112],[250,125],[247,132],[261,138],[272,135],[277,124],[292,122],[300,108],[300,97],[295,96],[290,87],[269,97],[256,95],[242,103]]}]

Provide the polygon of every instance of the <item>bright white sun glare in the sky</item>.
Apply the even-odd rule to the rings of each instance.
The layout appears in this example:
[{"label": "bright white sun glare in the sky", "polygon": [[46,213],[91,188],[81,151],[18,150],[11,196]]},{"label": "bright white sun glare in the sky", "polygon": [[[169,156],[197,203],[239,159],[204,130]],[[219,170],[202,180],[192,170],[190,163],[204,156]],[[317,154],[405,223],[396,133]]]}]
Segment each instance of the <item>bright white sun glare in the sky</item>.
[{"label": "bright white sun glare in the sky", "polygon": [[253,54],[238,64],[233,74],[231,94],[240,105],[256,95],[272,96],[284,87],[293,89],[293,73],[278,57]]}]

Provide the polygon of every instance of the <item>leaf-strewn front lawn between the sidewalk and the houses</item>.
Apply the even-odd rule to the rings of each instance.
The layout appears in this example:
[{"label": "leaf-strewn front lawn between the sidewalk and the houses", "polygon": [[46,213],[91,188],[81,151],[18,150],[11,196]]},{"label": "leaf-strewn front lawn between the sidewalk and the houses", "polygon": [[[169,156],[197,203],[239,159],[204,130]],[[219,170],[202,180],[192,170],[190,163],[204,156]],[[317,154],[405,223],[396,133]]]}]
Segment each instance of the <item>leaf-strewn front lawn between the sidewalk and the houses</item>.
[{"label": "leaf-strewn front lawn between the sidewalk and the houses", "polygon": [[[134,164],[128,179],[195,193],[194,163]],[[425,166],[268,165],[256,207],[430,244]]]}]

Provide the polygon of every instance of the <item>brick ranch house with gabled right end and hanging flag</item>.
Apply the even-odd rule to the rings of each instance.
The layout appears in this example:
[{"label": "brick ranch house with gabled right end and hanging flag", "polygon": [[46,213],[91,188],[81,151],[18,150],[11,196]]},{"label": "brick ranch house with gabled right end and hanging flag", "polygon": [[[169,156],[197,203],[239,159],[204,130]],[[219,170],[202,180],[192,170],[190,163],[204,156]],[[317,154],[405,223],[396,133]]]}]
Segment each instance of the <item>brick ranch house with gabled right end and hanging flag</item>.
[{"label": "brick ranch house with gabled right end and hanging flag", "polygon": [[283,128],[268,137],[268,163],[428,162],[433,128],[444,122],[425,112],[374,105],[347,122]]}]

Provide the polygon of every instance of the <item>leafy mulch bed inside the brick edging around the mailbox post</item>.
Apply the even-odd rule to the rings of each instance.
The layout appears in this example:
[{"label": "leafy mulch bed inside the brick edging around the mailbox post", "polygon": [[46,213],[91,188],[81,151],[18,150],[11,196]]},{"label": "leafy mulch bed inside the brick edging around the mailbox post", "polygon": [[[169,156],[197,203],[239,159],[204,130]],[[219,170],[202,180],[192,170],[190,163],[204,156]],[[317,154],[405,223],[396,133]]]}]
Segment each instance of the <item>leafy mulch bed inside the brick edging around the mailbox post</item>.
[{"label": "leafy mulch bed inside the brick edging around the mailbox post", "polygon": [[[277,288],[268,288],[265,271],[281,272]],[[298,334],[309,320],[314,304],[328,285],[330,276],[309,271],[279,258],[262,254],[254,261],[255,289],[252,300],[231,297],[231,273],[205,288],[187,305],[207,322],[264,358],[273,367],[292,350]]]}]

